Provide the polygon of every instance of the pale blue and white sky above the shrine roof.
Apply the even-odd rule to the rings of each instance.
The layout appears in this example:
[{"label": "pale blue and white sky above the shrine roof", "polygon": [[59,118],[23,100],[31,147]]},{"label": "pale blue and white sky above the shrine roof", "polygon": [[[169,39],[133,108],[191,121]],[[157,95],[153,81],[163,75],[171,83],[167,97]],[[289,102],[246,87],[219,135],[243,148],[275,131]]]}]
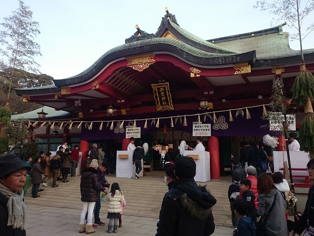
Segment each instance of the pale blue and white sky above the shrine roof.
[{"label": "pale blue and white sky above the shrine roof", "polygon": [[[164,8],[176,15],[178,24],[205,40],[267,29],[273,15],[253,8],[255,0],[24,0],[40,24],[36,41],[42,57],[36,58],[41,73],[54,79],[77,75],[108,50],[125,43],[136,31],[155,33]],[[18,8],[18,0],[0,0],[0,22]],[[314,19],[314,13],[304,26]],[[280,22],[280,24],[284,23]],[[284,31],[296,32],[289,26]],[[0,27],[0,30],[2,28]],[[314,48],[314,32],[303,49]],[[290,42],[294,50],[299,41]]]}]

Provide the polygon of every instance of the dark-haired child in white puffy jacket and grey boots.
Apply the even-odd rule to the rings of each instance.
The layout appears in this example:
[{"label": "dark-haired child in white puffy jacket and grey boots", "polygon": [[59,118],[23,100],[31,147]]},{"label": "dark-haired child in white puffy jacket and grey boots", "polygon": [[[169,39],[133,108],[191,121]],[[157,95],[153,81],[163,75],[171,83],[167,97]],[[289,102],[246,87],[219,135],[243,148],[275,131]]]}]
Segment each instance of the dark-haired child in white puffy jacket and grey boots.
[{"label": "dark-haired child in white puffy jacket and grey boots", "polygon": [[113,183],[111,185],[111,190],[107,194],[106,200],[109,202],[107,208],[107,219],[109,219],[107,233],[110,234],[112,232],[112,220],[114,220],[113,233],[117,233],[118,219],[121,212],[121,204],[125,202],[124,196],[118,183]]}]

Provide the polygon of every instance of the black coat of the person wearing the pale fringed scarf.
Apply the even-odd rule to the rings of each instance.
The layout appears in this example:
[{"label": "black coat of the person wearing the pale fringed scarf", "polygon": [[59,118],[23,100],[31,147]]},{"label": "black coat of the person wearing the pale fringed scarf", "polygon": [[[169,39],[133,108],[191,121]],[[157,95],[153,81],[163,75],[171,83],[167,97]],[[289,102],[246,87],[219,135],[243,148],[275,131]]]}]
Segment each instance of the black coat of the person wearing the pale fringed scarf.
[{"label": "black coat of the person wearing the pale fringed scarf", "polygon": [[26,231],[21,228],[13,229],[12,226],[7,226],[9,220],[8,208],[6,204],[8,198],[0,193],[0,230],[1,236],[26,236]]}]

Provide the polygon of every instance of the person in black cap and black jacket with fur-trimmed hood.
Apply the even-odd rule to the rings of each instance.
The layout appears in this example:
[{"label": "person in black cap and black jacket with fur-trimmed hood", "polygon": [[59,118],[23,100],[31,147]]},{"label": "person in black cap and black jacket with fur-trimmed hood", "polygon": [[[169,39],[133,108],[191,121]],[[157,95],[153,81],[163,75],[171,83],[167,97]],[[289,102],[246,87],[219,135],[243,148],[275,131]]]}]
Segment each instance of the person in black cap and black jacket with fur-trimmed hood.
[{"label": "person in black cap and black jacket with fur-trimmed hood", "polygon": [[215,230],[211,207],[216,199],[194,181],[196,164],[183,156],[174,163],[178,178],[163,198],[156,236],[209,236]]}]

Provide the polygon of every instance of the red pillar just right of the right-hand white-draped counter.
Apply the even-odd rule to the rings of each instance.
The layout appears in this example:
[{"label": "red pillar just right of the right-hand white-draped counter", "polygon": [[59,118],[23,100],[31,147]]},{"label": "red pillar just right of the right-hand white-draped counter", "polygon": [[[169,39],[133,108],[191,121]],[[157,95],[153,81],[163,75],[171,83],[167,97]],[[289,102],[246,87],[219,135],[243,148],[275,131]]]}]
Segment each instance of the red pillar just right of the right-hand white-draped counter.
[{"label": "red pillar just right of the right-hand white-draped counter", "polygon": [[208,149],[210,154],[210,179],[220,179],[219,143],[217,137],[208,137]]}]

